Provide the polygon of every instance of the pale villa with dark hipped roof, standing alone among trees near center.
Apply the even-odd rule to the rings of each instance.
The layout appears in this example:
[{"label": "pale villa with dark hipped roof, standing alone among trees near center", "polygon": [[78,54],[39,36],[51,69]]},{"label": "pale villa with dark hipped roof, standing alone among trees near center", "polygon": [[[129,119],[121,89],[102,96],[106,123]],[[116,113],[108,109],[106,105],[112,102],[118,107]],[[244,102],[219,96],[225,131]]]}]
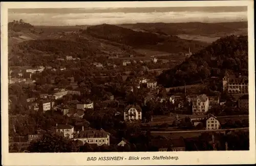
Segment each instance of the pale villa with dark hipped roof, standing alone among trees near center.
[{"label": "pale villa with dark hipped roof, standing alone among trees near center", "polygon": [[124,121],[136,121],[142,119],[142,110],[137,105],[129,105],[123,111]]}]

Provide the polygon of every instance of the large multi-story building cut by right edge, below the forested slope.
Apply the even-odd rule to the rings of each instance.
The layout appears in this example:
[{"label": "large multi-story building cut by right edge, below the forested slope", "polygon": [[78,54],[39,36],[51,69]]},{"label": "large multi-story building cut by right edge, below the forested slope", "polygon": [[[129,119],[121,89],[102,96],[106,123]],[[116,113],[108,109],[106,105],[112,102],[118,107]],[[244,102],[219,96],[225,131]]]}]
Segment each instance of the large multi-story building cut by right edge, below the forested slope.
[{"label": "large multi-story building cut by right edge, below the forested slope", "polygon": [[229,75],[228,73],[222,79],[223,91],[229,94],[248,94],[248,76]]}]

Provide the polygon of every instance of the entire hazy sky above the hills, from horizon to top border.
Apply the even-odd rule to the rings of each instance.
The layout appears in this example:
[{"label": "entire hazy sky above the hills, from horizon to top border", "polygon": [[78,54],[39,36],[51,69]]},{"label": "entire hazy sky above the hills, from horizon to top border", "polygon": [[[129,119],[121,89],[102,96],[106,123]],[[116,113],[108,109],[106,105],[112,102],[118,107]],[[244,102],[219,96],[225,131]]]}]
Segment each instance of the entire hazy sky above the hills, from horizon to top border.
[{"label": "entire hazy sky above the hills, from horizon to top border", "polygon": [[9,9],[8,13],[9,22],[23,19],[45,26],[247,21],[247,7]]}]

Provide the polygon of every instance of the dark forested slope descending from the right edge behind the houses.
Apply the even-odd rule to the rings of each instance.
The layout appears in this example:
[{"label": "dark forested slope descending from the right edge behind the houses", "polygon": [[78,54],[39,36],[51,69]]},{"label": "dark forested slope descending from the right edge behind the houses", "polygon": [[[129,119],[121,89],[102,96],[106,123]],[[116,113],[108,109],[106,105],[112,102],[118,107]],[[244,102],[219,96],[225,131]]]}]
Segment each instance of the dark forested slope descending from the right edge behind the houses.
[{"label": "dark forested slope descending from the right edge behind the houses", "polygon": [[248,36],[227,36],[183,61],[158,78],[165,87],[195,84],[211,76],[223,77],[225,70],[248,72]]}]

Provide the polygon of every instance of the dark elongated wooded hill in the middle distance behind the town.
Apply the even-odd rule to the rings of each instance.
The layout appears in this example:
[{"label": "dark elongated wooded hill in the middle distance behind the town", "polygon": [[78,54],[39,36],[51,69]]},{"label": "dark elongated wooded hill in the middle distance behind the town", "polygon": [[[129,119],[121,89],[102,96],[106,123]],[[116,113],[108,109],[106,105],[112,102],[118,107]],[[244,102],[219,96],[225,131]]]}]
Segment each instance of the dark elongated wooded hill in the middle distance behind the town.
[{"label": "dark elongated wooded hill in the middle distance behind the town", "polygon": [[187,52],[188,47],[196,52],[205,46],[206,43],[194,40],[181,39],[178,36],[157,34],[152,32],[140,32],[115,25],[97,25],[88,27],[82,33],[92,35],[120,44],[140,49],[151,49],[169,53]]}]

